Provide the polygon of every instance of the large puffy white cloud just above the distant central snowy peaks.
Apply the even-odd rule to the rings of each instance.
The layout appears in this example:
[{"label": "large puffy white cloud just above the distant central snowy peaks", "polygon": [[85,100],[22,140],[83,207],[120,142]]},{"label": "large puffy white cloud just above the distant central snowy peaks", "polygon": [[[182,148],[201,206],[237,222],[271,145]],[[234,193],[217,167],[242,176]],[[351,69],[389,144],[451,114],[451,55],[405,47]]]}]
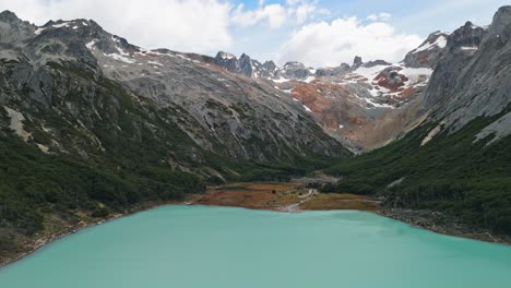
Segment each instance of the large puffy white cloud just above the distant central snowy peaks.
[{"label": "large puffy white cloud just above the distant central snowy peaks", "polygon": [[400,61],[423,39],[417,35],[400,34],[382,22],[363,24],[356,17],[317,22],[293,33],[278,52],[278,62],[301,61],[307,65],[338,65],[352,63],[355,56],[364,60]]}]

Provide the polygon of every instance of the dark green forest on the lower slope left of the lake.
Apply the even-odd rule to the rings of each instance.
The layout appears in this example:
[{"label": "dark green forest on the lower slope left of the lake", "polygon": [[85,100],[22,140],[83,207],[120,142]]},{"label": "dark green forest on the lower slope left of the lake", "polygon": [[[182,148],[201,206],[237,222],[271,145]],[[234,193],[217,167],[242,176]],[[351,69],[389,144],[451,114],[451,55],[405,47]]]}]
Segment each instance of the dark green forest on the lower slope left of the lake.
[{"label": "dark green forest on the lower slope left of the lake", "polygon": [[[324,168],[332,159],[296,163],[253,163],[207,156],[213,168],[237,171],[228,181],[288,181]],[[140,159],[133,159],[133,161]],[[70,223],[105,217],[144,203],[183,200],[205,192],[207,184],[226,179],[199,177],[157,163],[116,170],[110,165],[92,166],[78,157],[47,155],[35,144],[23,142],[12,131],[0,133],[0,254],[13,252],[16,235],[31,237],[45,229],[45,218],[57,215]]]}]

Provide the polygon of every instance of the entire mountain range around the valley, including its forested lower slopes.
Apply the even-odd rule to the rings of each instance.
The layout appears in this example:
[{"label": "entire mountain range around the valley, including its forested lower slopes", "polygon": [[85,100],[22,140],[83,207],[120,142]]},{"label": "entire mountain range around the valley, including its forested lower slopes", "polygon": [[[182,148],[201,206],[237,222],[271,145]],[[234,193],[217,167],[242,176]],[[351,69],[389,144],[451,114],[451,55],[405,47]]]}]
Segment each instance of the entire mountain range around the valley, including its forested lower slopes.
[{"label": "entire mountain range around the valley, including its forested lower slopes", "polygon": [[[325,192],[511,235],[511,7],[399,63],[309,68],[144,49],[92,20],[0,13],[0,254],[66,223],[226,181]],[[354,155],[363,154],[361,156]]]}]

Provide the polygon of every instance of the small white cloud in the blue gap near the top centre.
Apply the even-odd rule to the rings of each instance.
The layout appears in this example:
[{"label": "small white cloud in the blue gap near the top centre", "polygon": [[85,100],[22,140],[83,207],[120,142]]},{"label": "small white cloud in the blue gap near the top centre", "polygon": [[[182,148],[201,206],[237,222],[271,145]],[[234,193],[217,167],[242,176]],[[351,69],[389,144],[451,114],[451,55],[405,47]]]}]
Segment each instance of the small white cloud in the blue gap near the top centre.
[{"label": "small white cloud in the blue gap near the top centre", "polygon": [[257,10],[243,11],[245,5],[238,4],[231,13],[231,22],[235,25],[250,26],[268,21],[271,28],[278,28],[287,17],[286,10],[281,4],[261,5]]}]

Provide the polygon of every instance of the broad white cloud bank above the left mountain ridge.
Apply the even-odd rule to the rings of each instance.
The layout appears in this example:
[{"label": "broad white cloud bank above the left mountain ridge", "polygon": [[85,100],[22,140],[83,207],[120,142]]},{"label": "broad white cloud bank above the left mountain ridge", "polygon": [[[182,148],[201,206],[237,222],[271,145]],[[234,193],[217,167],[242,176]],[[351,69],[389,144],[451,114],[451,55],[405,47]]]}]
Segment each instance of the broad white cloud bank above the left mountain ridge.
[{"label": "broad white cloud bank above the left mountain ridge", "polygon": [[230,5],[221,0],[0,0],[0,10],[38,25],[48,20],[93,19],[147,48],[212,52],[233,44]]}]

